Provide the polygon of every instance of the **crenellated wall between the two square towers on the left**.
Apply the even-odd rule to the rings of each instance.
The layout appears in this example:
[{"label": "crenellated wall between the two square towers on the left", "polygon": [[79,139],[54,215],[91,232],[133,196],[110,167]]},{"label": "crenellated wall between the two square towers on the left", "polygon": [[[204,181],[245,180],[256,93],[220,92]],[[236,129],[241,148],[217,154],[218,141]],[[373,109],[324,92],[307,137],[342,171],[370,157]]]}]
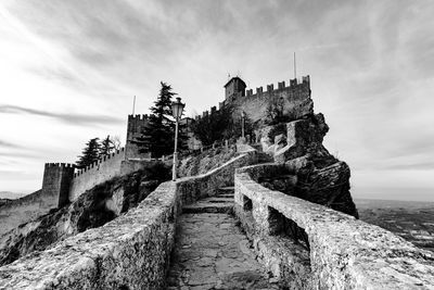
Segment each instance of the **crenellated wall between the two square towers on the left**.
[{"label": "crenellated wall between the two square towers on the left", "polygon": [[79,194],[122,174],[120,164],[125,160],[125,149],[104,156],[84,169],[74,174],[69,187],[69,201],[75,201]]}]

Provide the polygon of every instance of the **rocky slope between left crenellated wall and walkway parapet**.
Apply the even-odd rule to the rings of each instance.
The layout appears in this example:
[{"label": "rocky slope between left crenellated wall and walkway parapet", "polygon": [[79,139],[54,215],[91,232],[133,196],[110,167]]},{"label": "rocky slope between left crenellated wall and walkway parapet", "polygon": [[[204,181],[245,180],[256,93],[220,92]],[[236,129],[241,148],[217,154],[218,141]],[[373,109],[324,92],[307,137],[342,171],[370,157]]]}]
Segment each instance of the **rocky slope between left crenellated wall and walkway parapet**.
[{"label": "rocky slope between left crenellated wall and walkway parapet", "polygon": [[169,168],[157,164],[128,176],[115,177],[80,194],[72,204],[21,225],[1,237],[0,265],[106,224],[136,207],[169,176]]}]

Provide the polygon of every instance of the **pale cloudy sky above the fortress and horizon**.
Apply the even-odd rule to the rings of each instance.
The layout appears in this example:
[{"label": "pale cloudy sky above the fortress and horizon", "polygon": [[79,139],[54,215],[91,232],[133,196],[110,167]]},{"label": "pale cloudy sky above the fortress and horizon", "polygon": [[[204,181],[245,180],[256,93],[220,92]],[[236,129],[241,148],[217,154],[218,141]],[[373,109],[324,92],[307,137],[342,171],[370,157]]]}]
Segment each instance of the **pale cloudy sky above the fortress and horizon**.
[{"label": "pale cloudy sky above the fortress and horizon", "polygon": [[93,137],[149,113],[159,81],[187,115],[310,75],[324,144],[356,198],[434,201],[434,1],[0,2],[0,191],[41,187]]}]

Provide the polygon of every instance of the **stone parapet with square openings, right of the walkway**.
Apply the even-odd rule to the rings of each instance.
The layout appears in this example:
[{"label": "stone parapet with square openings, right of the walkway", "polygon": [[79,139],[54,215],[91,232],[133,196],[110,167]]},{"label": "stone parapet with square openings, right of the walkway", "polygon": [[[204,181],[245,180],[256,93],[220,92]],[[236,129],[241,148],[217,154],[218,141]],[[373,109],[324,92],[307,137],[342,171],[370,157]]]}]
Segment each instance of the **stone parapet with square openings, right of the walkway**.
[{"label": "stone parapet with square openings, right of the walkway", "polygon": [[260,186],[254,180],[260,166],[237,171],[235,214],[258,257],[290,289],[434,289],[433,253]]}]

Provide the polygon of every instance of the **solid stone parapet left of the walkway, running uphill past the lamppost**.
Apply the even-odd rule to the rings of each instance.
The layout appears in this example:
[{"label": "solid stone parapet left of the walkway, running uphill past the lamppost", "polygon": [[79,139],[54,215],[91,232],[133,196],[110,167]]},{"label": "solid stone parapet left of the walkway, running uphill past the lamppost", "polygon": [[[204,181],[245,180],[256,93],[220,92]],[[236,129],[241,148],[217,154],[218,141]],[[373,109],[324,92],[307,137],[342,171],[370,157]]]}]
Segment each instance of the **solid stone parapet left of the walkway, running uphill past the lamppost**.
[{"label": "solid stone parapet left of the walkway, running uphill past the lamppost", "polygon": [[164,289],[182,204],[233,182],[241,154],[207,174],[167,181],[140,205],[100,228],[69,237],[0,267],[0,289]]}]

